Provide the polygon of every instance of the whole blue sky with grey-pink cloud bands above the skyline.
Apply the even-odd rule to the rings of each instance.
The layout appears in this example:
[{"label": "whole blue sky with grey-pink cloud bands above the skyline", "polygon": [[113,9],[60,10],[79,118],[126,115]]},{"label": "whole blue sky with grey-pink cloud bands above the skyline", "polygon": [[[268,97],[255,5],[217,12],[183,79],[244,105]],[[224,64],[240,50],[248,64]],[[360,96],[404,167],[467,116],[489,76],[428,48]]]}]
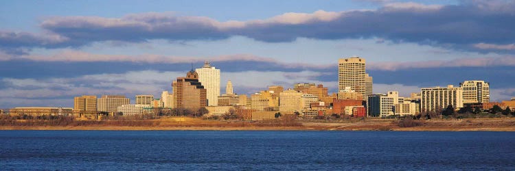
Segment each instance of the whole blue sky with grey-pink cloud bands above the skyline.
[{"label": "whole blue sky with grey-pink cloud bands above the skyline", "polygon": [[[159,98],[204,61],[238,94],[322,83],[367,60],[374,93],[490,83],[515,97],[515,1],[0,1],[0,108]],[[134,101],[133,101],[134,102]]]}]

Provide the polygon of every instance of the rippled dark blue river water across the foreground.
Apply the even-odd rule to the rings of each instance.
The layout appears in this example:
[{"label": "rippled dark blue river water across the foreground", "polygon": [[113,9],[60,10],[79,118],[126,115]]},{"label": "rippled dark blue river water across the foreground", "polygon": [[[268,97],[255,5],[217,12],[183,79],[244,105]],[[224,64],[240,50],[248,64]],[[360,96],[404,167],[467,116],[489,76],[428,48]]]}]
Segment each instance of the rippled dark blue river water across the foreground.
[{"label": "rippled dark blue river water across the foreground", "polygon": [[0,170],[515,170],[515,132],[0,131]]}]

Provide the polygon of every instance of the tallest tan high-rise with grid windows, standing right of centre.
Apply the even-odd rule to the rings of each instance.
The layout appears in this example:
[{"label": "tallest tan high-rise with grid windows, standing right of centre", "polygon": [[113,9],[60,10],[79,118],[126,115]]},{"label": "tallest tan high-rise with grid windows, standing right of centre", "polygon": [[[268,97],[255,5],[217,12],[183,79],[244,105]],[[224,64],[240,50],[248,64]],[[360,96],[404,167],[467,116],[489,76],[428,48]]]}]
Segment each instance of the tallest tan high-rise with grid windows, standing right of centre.
[{"label": "tallest tan high-rise with grid windows, standing right of centre", "polygon": [[350,57],[338,60],[338,90],[350,87],[352,90],[366,96],[365,59]]}]

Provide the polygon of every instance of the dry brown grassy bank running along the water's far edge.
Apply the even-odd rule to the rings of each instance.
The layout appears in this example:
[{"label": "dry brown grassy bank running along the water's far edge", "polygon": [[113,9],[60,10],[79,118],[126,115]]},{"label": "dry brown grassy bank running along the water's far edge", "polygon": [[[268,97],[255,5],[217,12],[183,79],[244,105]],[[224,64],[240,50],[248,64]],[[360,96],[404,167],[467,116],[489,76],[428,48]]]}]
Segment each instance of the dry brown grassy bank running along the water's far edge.
[{"label": "dry brown grassy bank running along the water's far edge", "polygon": [[0,130],[330,130],[330,131],[515,131],[514,118],[463,120],[295,120],[251,122],[163,117],[134,120],[0,120]]}]

